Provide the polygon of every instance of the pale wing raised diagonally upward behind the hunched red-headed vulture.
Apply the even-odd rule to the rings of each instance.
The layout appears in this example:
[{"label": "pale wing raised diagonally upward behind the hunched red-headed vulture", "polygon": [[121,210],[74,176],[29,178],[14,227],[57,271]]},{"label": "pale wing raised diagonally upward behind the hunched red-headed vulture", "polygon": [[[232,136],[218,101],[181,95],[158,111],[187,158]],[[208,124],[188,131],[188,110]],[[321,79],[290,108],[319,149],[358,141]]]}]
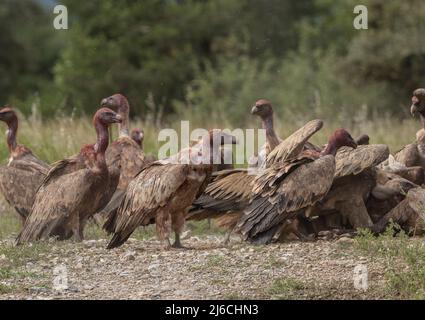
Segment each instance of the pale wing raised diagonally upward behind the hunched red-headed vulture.
[{"label": "pale wing raised diagonally upward behind the hunched red-headed vulture", "polygon": [[310,137],[323,126],[322,120],[312,120],[283,140],[267,155],[267,166],[276,162],[283,162],[298,155]]}]

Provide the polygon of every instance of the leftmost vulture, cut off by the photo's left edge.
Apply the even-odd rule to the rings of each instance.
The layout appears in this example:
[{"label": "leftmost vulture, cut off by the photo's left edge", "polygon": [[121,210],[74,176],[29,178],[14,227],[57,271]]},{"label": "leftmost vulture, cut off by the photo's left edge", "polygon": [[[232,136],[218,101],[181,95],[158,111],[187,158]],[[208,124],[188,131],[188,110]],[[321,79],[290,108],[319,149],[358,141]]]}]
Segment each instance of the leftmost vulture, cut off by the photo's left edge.
[{"label": "leftmost vulture, cut off by the photo's left edge", "polygon": [[49,170],[30,149],[16,142],[18,117],[13,109],[0,110],[0,120],[7,124],[9,162],[0,166],[0,189],[6,201],[15,208],[22,224],[34,203],[35,193]]}]

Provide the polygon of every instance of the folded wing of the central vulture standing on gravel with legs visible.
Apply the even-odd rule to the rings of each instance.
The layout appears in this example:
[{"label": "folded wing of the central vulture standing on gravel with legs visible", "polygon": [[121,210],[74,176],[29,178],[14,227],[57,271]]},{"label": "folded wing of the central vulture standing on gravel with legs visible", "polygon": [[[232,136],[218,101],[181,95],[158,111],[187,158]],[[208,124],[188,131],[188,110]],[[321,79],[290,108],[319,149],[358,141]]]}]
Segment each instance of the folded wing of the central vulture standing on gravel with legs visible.
[{"label": "folded wing of the central vulture standing on gravel with legs visible", "polygon": [[124,243],[140,225],[147,225],[161,207],[166,206],[185,182],[189,166],[152,163],[145,167],[127,187],[124,198],[109,226],[114,235],[108,248]]}]

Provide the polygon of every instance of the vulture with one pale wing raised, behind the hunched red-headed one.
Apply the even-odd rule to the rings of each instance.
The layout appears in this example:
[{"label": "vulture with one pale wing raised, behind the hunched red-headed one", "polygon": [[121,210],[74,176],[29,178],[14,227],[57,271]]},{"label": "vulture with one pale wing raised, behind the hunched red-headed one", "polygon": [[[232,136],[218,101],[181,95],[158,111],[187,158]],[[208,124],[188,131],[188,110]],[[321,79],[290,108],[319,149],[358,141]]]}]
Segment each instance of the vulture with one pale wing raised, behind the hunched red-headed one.
[{"label": "vulture with one pale wing raised, behind the hunched red-headed one", "polygon": [[[270,105],[257,102],[256,106],[253,107],[253,114],[256,114],[257,108],[266,108],[267,111],[264,113],[270,114]],[[267,122],[270,123],[271,121],[263,121],[263,126]],[[306,148],[308,139],[322,126],[321,120],[312,120],[279,143],[277,148],[271,142],[267,143],[264,149],[269,150],[266,153],[267,158],[262,160],[260,165],[263,167],[270,166],[275,162],[284,161],[288,157],[298,154]],[[273,148],[270,148],[270,146],[273,146]],[[307,148],[315,147],[308,144]],[[249,204],[252,183],[256,174],[257,171],[254,168],[224,170],[213,174],[213,180],[207,186],[205,192],[194,201],[187,220],[216,218],[217,225],[228,230],[224,240],[225,243],[228,243],[232,230],[239,221],[243,210]]]}]

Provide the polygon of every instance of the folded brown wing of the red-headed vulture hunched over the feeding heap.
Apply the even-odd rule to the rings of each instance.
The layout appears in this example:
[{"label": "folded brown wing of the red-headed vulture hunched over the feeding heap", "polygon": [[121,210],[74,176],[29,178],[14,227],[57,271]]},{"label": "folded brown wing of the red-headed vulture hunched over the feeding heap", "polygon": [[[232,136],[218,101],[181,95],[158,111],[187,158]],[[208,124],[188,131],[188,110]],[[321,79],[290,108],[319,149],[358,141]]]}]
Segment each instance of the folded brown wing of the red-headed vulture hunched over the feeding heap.
[{"label": "folded brown wing of the red-headed vulture hunched over the feeding heap", "polygon": [[256,179],[255,196],[238,223],[245,237],[254,238],[273,229],[326,195],[332,185],[335,159],[324,156],[311,161],[303,158],[299,163],[275,166]]}]

